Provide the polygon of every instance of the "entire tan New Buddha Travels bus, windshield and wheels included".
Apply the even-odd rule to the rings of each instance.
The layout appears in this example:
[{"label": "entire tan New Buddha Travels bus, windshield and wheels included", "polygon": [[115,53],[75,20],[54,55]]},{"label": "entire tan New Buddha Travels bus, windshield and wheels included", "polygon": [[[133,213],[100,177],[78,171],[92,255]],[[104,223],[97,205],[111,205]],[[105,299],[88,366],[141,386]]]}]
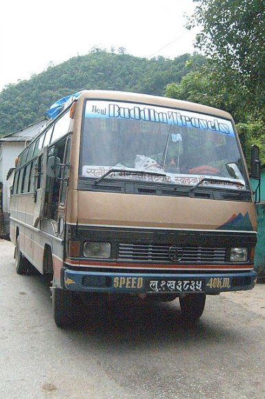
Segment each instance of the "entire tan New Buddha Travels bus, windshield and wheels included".
[{"label": "entire tan New Buddha Travels bus, windshield and wheels included", "polygon": [[82,320],[80,298],[122,301],[126,294],[178,298],[193,323],[206,295],[254,287],[256,235],[238,134],[219,109],[84,90],[16,163],[16,272],[52,274],[59,327]]}]

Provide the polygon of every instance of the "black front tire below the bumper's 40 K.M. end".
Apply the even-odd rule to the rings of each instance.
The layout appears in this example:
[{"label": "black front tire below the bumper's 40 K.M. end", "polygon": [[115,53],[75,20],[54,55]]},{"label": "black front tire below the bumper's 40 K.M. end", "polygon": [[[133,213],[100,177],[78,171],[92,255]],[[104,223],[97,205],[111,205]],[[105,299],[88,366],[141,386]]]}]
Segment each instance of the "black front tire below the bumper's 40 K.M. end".
[{"label": "black front tire below the bumper's 40 K.M. end", "polygon": [[203,314],[205,308],[206,294],[187,294],[180,296],[181,315],[189,323],[195,323]]}]

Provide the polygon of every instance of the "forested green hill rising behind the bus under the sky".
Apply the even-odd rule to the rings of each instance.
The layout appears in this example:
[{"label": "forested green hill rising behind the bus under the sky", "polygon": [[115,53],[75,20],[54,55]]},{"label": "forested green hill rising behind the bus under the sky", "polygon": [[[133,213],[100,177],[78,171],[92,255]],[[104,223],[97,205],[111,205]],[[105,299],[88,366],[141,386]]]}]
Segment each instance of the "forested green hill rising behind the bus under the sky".
[{"label": "forested green hill rising behind the bus under the sky", "polygon": [[8,85],[0,93],[0,137],[23,129],[45,116],[59,98],[82,89],[136,91],[164,95],[165,86],[179,83],[190,72],[187,60],[203,63],[202,56],[184,54],[174,60],[139,58],[95,49],[45,72]]}]

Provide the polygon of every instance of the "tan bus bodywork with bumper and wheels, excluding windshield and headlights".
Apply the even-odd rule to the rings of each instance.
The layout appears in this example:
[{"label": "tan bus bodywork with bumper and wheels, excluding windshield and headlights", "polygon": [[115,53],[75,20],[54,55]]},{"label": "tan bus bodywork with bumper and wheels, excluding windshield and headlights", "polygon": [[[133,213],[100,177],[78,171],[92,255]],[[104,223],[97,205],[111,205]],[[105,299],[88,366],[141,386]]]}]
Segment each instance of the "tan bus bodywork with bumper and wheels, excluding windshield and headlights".
[{"label": "tan bus bodywork with bumper and wheels, excluding windshield and headlights", "polygon": [[[120,180],[122,186],[112,185],[116,179],[109,176],[88,183],[95,179],[80,177],[88,99],[189,111],[229,120],[234,127],[231,116],[219,109],[119,91],[83,91],[49,121],[30,144],[35,147],[25,149],[16,166],[10,237],[16,245],[19,273],[29,272],[27,259],[42,274],[54,275],[56,323],[73,323],[73,303],[80,292],[179,296],[183,312],[198,319],[205,294],[253,288],[257,220],[251,191],[242,195],[242,191],[218,189],[216,195],[215,188],[191,190],[200,184],[200,176],[190,177],[192,184],[189,177],[181,177],[189,182],[184,191],[182,186],[167,188],[159,175]],[[61,133],[55,133],[54,126],[59,126],[64,115],[66,123],[61,123]],[[50,138],[42,147],[44,135]],[[62,167],[62,180],[47,172],[52,156],[67,165]],[[94,173],[96,179],[104,174]],[[109,243],[111,256],[85,256],[87,242]],[[247,248],[247,259],[232,262],[231,248]],[[185,286],[189,288],[185,290]]]}]

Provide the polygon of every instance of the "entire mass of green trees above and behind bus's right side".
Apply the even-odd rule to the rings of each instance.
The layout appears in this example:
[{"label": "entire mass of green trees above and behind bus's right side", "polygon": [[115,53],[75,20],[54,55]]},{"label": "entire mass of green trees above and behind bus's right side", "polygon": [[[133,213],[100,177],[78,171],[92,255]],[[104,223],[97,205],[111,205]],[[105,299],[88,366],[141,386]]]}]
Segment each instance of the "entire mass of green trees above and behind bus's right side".
[{"label": "entire mass of green trees above and behind bus's right side", "polygon": [[198,3],[189,27],[200,25],[196,45],[208,57],[165,95],[224,109],[233,115],[246,160],[251,144],[264,136],[264,2],[262,0],[194,0]]}]

